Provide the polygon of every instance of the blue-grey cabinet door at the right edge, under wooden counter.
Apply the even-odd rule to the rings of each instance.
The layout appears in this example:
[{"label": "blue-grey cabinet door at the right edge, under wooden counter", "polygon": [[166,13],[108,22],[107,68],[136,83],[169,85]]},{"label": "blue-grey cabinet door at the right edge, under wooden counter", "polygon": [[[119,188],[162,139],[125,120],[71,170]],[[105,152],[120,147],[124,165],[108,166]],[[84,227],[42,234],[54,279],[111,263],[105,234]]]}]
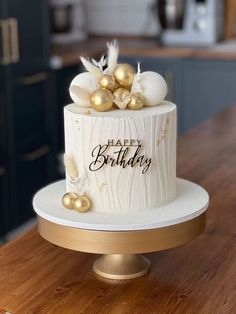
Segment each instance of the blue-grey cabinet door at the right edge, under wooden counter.
[{"label": "blue-grey cabinet door at the right edge, under wooden counter", "polygon": [[236,64],[228,61],[185,61],[183,131],[236,103]]}]

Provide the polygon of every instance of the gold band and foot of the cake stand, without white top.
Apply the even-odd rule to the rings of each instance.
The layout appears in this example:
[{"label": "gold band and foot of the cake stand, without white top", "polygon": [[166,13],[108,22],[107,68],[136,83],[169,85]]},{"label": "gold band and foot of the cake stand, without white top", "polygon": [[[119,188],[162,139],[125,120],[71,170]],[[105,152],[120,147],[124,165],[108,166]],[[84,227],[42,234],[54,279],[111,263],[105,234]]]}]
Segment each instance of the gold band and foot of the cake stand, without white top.
[{"label": "gold band and foot of the cake stand, without white top", "polygon": [[148,273],[150,261],[141,253],[157,252],[189,242],[205,228],[206,214],[168,227],[137,231],[96,231],[67,227],[38,216],[38,231],[58,246],[104,254],[94,272],[109,279],[132,279]]}]

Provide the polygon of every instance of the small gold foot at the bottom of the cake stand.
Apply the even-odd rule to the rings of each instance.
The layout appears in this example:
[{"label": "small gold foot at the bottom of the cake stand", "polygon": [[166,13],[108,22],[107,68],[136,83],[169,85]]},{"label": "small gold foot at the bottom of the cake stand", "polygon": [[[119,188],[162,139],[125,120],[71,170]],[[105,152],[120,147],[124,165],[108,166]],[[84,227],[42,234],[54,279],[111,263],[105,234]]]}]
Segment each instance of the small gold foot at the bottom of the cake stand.
[{"label": "small gold foot at the bottom of the cake stand", "polygon": [[141,254],[107,254],[93,264],[94,272],[108,279],[133,279],[150,270],[150,261]]}]

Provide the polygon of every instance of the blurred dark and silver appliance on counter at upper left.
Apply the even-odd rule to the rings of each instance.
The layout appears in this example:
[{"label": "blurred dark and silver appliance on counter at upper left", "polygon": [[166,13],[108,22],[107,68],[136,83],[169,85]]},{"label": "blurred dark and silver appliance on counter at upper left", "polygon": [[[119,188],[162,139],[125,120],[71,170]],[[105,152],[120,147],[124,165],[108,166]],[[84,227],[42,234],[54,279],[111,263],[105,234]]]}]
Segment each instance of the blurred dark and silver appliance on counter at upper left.
[{"label": "blurred dark and silver appliance on counter at upper left", "polygon": [[87,37],[83,0],[50,0],[52,41],[79,42]]}]

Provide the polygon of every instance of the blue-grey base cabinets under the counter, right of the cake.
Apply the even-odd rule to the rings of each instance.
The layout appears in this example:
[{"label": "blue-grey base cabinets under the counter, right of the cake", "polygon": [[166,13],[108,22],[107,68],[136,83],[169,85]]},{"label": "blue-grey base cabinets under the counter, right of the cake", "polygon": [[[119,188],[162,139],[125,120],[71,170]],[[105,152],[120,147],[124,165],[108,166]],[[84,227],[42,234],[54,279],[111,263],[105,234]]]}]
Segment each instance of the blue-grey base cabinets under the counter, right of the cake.
[{"label": "blue-grey base cabinets under the counter, right of the cake", "polygon": [[166,79],[180,133],[236,103],[235,61],[122,56],[120,62],[140,62],[142,71],[156,71]]}]

